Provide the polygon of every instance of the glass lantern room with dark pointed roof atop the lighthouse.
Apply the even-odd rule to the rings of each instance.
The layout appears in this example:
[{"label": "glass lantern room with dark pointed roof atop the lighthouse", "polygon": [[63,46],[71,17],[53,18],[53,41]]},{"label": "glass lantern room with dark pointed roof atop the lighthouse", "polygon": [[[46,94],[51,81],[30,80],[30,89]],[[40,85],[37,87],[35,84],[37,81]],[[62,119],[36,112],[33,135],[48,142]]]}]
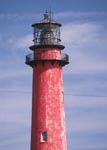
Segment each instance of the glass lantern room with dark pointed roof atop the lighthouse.
[{"label": "glass lantern room with dark pointed roof atop the lighthouse", "polygon": [[34,45],[60,45],[61,24],[54,22],[46,11],[44,19],[32,25],[34,28]]}]

